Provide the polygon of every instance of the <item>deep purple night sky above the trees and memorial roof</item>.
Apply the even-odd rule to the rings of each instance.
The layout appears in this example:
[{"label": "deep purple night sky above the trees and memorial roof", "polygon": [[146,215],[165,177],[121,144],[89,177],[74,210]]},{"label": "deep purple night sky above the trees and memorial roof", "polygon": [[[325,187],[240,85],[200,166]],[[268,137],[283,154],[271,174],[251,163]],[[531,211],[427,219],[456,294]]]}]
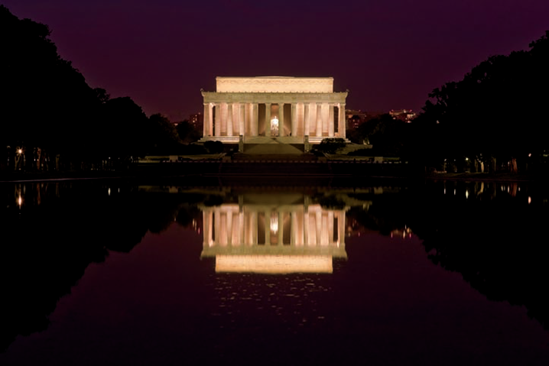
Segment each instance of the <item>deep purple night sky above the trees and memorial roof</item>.
[{"label": "deep purple night sky above the trees and memorial roof", "polygon": [[202,111],[216,76],[332,76],[347,108],[412,108],[549,29],[548,0],[0,0],[49,25],[91,87],[147,115]]}]

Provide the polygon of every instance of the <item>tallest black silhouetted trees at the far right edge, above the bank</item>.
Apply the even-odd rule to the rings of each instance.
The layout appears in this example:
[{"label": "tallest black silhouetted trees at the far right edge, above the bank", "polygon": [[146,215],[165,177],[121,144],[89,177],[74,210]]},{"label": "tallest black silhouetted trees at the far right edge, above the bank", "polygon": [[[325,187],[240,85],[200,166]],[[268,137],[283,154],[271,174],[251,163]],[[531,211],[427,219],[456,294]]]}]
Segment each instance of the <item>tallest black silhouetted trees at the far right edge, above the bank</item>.
[{"label": "tallest black silhouetted trees at the far right edge, above the bank", "polygon": [[466,158],[524,166],[530,154],[542,156],[549,149],[542,107],[549,98],[548,36],[529,51],[492,56],[463,80],[433,90],[413,122],[415,157],[430,166],[444,159],[464,165]]}]

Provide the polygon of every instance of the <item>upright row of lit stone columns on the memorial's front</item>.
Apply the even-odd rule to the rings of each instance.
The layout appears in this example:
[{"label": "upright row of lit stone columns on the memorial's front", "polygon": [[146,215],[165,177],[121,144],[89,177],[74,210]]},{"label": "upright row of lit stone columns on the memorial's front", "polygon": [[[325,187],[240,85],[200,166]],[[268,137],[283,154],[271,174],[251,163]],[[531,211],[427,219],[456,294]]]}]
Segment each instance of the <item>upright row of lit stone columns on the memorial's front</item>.
[{"label": "upright row of lit stone columns on the memorial's front", "polygon": [[[270,131],[272,103],[263,104],[265,104],[265,128],[266,131]],[[282,136],[285,118],[284,103],[276,104],[279,108],[278,136]],[[216,108],[215,118],[214,107]],[[338,136],[345,138],[347,126],[343,103],[292,103],[291,136],[335,137],[335,107],[338,107]],[[225,136],[258,136],[258,129],[258,103],[204,103],[204,136],[222,136],[222,131],[225,131]],[[311,134],[313,129],[314,134]]]}]

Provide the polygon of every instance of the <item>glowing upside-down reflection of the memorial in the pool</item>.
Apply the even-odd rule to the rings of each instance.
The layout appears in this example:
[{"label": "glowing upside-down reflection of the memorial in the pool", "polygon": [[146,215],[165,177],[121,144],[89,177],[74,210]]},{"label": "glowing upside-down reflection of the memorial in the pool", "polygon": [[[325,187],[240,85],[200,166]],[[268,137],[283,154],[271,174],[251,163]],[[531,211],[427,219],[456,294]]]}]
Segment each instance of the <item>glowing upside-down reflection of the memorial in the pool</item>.
[{"label": "glowing upside-down reflection of the memorial in the pool", "polygon": [[299,193],[240,194],[238,204],[199,206],[202,257],[216,272],[332,273],[346,258],[345,211],[326,209]]}]

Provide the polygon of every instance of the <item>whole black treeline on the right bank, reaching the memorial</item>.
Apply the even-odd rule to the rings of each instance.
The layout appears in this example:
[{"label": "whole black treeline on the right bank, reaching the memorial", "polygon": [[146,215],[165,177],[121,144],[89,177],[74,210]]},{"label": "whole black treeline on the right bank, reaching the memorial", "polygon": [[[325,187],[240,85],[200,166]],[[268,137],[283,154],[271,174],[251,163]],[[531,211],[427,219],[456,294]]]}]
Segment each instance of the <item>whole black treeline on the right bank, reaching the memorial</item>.
[{"label": "whole black treeline on the right bank, reaching the memorial", "polygon": [[547,170],[549,31],[528,51],[492,56],[463,80],[433,90],[412,123],[374,116],[349,137],[357,154],[401,156],[428,170]]}]

